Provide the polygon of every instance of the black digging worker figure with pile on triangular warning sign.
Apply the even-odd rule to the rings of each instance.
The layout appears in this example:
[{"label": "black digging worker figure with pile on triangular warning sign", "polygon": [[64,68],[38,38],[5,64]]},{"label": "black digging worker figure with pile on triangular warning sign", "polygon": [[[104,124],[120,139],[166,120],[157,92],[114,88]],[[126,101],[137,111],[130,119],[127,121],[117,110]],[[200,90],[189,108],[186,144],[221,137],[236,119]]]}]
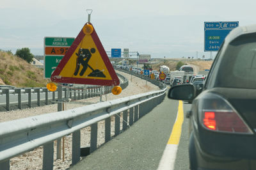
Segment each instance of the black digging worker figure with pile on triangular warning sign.
[{"label": "black digging worker figure with pile on triangular warning sign", "polygon": [[102,71],[96,69],[94,70],[92,66],[88,65],[88,62],[90,58],[92,57],[92,54],[95,53],[96,50],[94,48],[92,49],[79,49],[76,59],[76,70],[74,72],[74,75],[77,75],[80,69],[80,65],[83,66],[81,72],[79,73],[80,76],[84,75],[84,72],[86,72],[87,68],[89,67],[92,70],[92,73],[90,73],[88,76],[90,77],[106,77]]}]

